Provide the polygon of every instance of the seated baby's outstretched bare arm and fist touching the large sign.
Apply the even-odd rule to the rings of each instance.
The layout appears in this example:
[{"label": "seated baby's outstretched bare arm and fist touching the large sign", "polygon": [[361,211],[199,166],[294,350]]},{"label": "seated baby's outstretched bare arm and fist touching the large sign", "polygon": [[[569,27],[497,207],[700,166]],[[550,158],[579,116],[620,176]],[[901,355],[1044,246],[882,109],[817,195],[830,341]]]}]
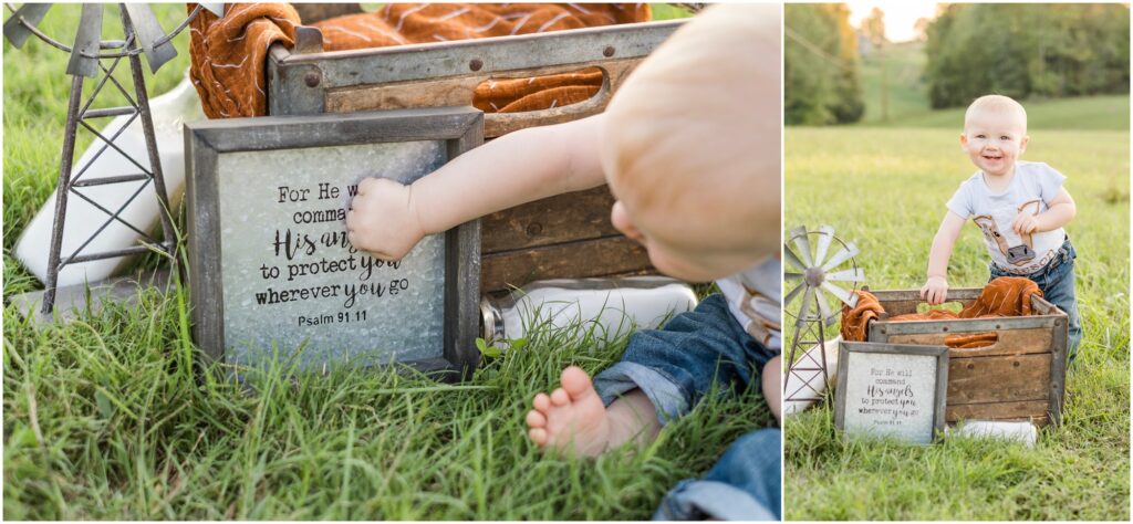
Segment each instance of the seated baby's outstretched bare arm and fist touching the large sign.
[{"label": "seated baby's outstretched bare arm and fist touching the large sign", "polygon": [[604,114],[497,138],[410,186],[368,178],[347,214],[350,242],[377,258],[404,257],[426,234],[539,198],[605,182]]}]

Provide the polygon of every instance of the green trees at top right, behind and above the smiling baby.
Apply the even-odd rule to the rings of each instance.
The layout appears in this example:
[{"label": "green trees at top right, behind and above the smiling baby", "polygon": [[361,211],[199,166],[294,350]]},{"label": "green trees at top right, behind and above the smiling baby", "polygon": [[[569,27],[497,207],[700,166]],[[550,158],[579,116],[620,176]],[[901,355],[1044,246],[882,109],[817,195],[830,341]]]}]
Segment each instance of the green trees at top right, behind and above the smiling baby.
[{"label": "green trees at top right, behind and above the smiling baby", "polygon": [[1130,89],[1130,9],[1123,5],[953,3],[926,36],[935,109],[988,93],[1026,98]]}]

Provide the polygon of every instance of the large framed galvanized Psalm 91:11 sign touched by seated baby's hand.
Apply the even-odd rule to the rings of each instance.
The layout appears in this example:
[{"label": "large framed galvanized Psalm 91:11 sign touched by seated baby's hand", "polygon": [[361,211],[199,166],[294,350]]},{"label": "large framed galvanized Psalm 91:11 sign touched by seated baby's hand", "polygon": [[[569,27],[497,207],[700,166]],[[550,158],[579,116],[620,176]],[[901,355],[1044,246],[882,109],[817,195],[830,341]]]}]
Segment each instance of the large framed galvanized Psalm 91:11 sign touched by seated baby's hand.
[{"label": "large framed galvanized Psalm 91:11 sign touched by seated baby's hand", "polygon": [[412,110],[188,126],[195,337],[239,366],[469,369],[478,225],[397,261],[347,240],[367,177],[410,183],[480,141],[482,115]]}]

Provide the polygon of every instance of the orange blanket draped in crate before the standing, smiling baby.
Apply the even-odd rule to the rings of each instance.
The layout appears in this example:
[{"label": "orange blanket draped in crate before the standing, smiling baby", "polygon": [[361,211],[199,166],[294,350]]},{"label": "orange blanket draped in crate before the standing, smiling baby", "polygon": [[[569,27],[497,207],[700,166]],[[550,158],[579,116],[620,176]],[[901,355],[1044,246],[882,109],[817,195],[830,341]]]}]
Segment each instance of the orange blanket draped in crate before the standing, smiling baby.
[{"label": "orange blanket draped in crate before the standing, smiling baby", "polygon": [[[868,291],[858,291],[858,306],[842,308],[842,340],[861,342],[868,334],[869,321],[885,313],[885,308]],[[923,313],[891,317],[889,321],[955,320],[964,318],[1023,317],[1031,315],[1031,295],[1042,297],[1038,284],[1020,276],[1002,276],[983,286],[983,292],[971,306],[959,313],[934,309]],[[944,343],[948,347],[970,349],[991,345],[997,340],[995,333],[949,335]]]}]

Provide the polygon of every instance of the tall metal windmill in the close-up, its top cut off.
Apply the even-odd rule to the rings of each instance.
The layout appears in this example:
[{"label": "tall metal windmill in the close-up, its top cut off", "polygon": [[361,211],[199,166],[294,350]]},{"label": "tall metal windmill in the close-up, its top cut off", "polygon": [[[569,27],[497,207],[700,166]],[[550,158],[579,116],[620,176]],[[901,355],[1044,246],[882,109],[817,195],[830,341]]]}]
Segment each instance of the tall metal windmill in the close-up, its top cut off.
[{"label": "tall metal windmill in the close-up, its top cut off", "polygon": [[[156,72],[162,65],[177,55],[177,50],[170,41],[189,25],[189,22],[191,22],[197,14],[201,12],[201,9],[204,8],[204,6],[198,5],[185,18],[185,20],[177,26],[177,28],[169,34],[165,34],[147,5],[120,3],[119,18],[122,24],[123,40],[102,40],[102,16],[104,5],[85,3],[83,5],[82,17],[79,18],[78,29],[75,34],[74,45],[71,46],[58,42],[37,28],[37,24],[43,20],[44,15],[46,15],[50,8],[50,3],[24,3],[19,9],[15,9],[11,5],[8,5],[8,10],[11,11],[12,15],[3,25],[5,37],[8,38],[8,41],[11,42],[11,44],[17,49],[23,48],[28,36],[35,35],[49,45],[70,53],[70,61],[67,63],[67,74],[71,76],[71,89],[70,100],[67,106],[67,126],[63,131],[62,157],[59,166],[56,218],[52,226],[51,250],[48,259],[46,286],[41,308],[41,313],[43,315],[50,315],[54,309],[56,284],[59,278],[59,272],[63,266],[90,260],[101,260],[140,254],[150,251],[151,249],[157,249],[165,252],[176,261],[173,251],[177,247],[177,239],[173,234],[172,217],[169,209],[169,195],[165,191],[165,182],[162,178],[161,161],[157,156],[157,144],[154,139],[153,119],[150,114],[150,100],[146,94],[145,78],[143,76],[139,55],[145,54],[146,61],[150,63],[151,72]],[[210,7],[210,10],[215,11],[216,9],[215,5]],[[113,77],[114,68],[118,67],[122,59],[127,59],[130,65],[130,72],[133,74],[134,80],[133,95],[119,83],[118,79]],[[109,67],[104,62],[109,62]],[[84,103],[83,81],[87,77],[96,79],[96,81],[94,91]],[[118,92],[126,97],[128,105],[111,109],[91,109],[95,98],[108,84],[113,85]],[[117,134],[105,137],[101,135],[91,123],[88,123],[88,120],[118,115],[129,115],[130,121],[134,121],[134,119],[140,119],[142,128],[145,135],[147,158],[135,158],[114,145],[114,139],[119,134],[121,134],[122,130],[127,129],[128,126],[122,126]],[[73,165],[75,156],[75,137],[79,126],[86,128],[104,144],[99,153],[91,161],[88,161],[86,165],[75,170]],[[101,156],[108,148],[113,148],[116,152],[128,158],[130,163],[133,163],[140,172],[122,174],[119,177],[103,177],[91,180],[83,179],[83,174],[86,172],[87,167],[94,164],[94,161],[97,160],[97,157]],[[86,187],[138,181],[143,182],[140,187],[137,188],[133,196],[127,199],[125,204],[118,207],[117,211],[108,209],[105,206],[100,205],[79,191],[80,188]],[[161,229],[164,235],[162,241],[153,239],[147,232],[142,231],[140,227],[128,223],[120,216],[122,211],[125,211],[130,203],[133,203],[134,199],[142,194],[142,190],[145,189],[151,181],[154,184],[159,204],[163,209],[163,213],[161,213]],[[75,195],[76,197],[86,200],[95,208],[105,213],[108,218],[94,234],[79,244],[78,249],[70,255],[62,257],[60,251],[62,247],[63,223],[67,218],[67,197],[70,195]],[[144,239],[143,243],[113,251],[84,252],[84,249],[91,244],[94,238],[116,221],[136,231],[142,239]]]}]

